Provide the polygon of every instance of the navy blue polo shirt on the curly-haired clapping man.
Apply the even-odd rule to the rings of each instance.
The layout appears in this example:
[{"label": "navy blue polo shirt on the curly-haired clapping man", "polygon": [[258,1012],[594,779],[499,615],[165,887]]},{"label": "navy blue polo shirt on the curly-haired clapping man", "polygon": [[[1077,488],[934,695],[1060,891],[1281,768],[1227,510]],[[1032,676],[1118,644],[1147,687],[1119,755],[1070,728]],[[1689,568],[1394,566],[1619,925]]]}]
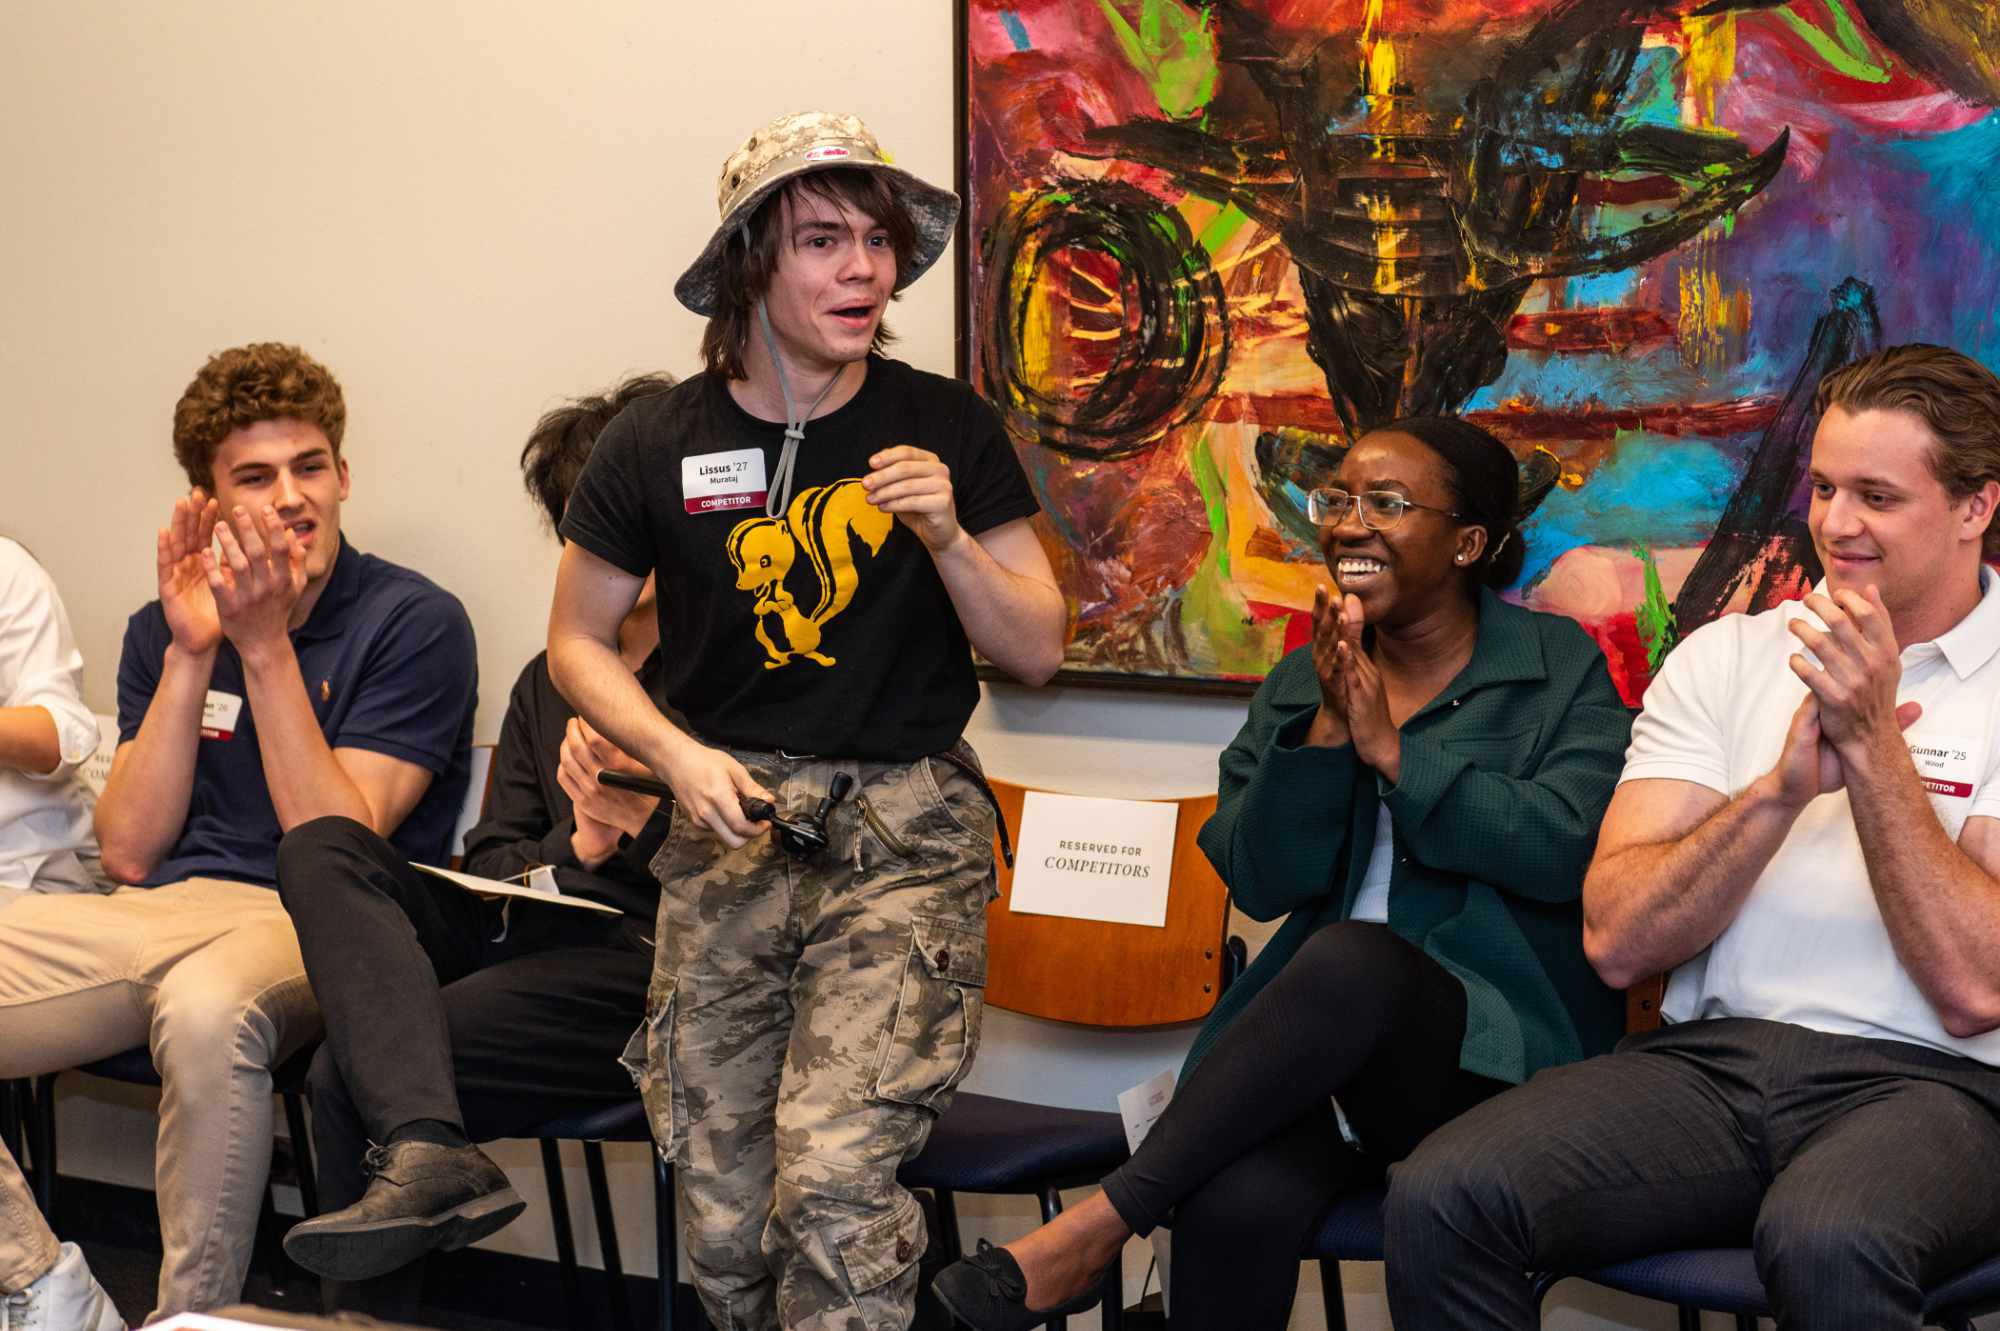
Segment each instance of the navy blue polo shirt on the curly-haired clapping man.
[{"label": "navy blue polo shirt on the curly-haired clapping man", "polygon": [[[138,735],[146,719],[168,642],[172,632],[160,602],[126,622],[118,658],[120,743]],[[292,652],[328,747],[370,749],[434,773],[390,841],[410,859],[444,863],[472,775],[478,656],[466,608],[422,574],[362,554],[342,538],[326,592],[292,630]],[[232,705],[232,699],[242,701]],[[146,887],[184,877],[278,881],[284,833],[264,783],[242,658],[226,638],[208,679],[208,703],[188,821]]]}]

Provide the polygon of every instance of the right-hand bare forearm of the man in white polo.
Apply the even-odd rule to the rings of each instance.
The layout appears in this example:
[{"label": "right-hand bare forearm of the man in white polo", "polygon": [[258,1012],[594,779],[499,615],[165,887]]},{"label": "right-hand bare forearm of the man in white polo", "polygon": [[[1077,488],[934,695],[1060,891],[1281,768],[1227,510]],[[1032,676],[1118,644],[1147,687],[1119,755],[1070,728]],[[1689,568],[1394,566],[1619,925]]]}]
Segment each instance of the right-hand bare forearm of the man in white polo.
[{"label": "right-hand bare forearm of the man in white polo", "polygon": [[2000,883],[1952,843],[1900,739],[1842,751],[1842,765],[1896,957],[1946,1031],[2000,1027]]}]

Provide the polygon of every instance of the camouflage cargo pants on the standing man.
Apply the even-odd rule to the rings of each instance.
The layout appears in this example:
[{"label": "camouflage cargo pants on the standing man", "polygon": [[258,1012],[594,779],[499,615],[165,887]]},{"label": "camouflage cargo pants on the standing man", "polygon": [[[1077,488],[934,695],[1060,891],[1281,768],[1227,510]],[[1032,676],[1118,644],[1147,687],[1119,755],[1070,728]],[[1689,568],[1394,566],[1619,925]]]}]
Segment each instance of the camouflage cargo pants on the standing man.
[{"label": "camouflage cargo pants on the standing man", "polygon": [[902,1331],[924,1219],[896,1167],[978,1049],[994,813],[942,759],[736,757],[786,817],[836,771],[856,789],[812,861],[678,817],[652,861],[658,957],[628,1057],[678,1165],[688,1265],[720,1331]]}]

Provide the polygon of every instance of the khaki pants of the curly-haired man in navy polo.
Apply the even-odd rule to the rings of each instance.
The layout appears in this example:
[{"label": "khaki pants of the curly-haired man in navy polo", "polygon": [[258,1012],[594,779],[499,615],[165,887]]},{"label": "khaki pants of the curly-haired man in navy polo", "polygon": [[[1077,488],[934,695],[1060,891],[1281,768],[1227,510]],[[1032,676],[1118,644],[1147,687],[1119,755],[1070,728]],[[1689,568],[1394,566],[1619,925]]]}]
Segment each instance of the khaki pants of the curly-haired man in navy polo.
[{"label": "khaki pants of the curly-haired man in navy polo", "polygon": [[[198,877],[30,895],[0,913],[0,1077],[134,1045],[160,1069],[154,1317],[242,1293],[270,1173],[270,1067],[318,1033],[298,937],[270,887]],[[0,1173],[0,1207],[6,1187]],[[38,1261],[44,1235],[0,1233],[0,1283]]]}]

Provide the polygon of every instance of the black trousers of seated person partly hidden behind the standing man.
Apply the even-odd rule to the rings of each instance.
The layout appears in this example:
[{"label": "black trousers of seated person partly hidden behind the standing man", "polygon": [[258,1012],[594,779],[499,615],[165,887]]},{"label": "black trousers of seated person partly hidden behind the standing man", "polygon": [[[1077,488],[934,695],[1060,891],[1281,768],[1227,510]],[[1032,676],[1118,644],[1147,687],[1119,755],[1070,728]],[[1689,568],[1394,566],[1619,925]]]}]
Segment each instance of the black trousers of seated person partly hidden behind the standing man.
[{"label": "black trousers of seated person partly hidden behind the standing man", "polygon": [[[360,1199],[362,1153],[404,1123],[492,1141],[638,1095],[618,1055],[646,1017],[652,921],[534,903],[502,921],[344,817],[286,835],[278,893],[326,1017],[312,1061],[326,1211]],[[370,1281],[342,1303],[408,1313],[418,1279]]]}]

